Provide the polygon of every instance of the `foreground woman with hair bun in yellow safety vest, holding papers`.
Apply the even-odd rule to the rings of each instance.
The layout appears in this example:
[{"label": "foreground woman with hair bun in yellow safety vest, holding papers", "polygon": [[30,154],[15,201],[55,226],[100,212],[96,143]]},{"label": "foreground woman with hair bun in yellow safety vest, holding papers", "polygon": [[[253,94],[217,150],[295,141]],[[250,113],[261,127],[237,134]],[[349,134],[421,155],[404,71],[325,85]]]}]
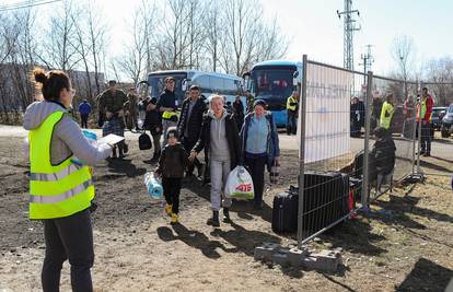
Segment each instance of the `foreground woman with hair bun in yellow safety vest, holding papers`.
[{"label": "foreground woman with hair bun in yellow safety vest, holding papers", "polygon": [[42,96],[25,112],[30,141],[30,219],[44,221],[46,256],[44,291],[59,291],[61,267],[69,259],[73,291],[92,291],[94,261],[91,201],[94,186],[89,165],[112,153],[108,144],[93,145],[69,109],[76,91],[58,70],[33,70]]}]

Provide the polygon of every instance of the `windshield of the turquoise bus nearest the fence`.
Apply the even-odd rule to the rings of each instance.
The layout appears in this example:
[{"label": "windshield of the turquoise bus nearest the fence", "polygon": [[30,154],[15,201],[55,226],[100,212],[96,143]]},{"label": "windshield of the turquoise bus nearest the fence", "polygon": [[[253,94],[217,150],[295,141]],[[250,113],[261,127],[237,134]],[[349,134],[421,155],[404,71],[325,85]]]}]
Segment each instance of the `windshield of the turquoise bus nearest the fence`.
[{"label": "windshield of the turquoise bus nearest the fence", "polygon": [[255,96],[288,97],[292,93],[293,70],[258,69],[252,71],[251,92]]}]

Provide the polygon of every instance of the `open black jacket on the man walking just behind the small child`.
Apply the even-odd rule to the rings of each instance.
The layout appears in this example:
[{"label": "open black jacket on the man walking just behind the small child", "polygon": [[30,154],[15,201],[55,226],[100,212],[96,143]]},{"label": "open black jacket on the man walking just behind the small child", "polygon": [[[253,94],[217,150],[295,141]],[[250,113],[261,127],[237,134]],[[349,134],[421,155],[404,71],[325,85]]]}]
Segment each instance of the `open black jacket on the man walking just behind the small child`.
[{"label": "open black jacket on the man walking just behind the small child", "polygon": [[[179,121],[177,122],[177,133],[182,141],[184,141],[184,139],[187,138],[189,141],[196,142],[200,136],[202,117],[206,110],[206,104],[201,98],[198,98],[191,109],[190,117],[187,118],[189,104],[190,104],[190,97],[186,98],[183,102],[183,106],[181,108]],[[188,137],[184,137],[186,125],[188,125],[188,128],[189,128]]]}]

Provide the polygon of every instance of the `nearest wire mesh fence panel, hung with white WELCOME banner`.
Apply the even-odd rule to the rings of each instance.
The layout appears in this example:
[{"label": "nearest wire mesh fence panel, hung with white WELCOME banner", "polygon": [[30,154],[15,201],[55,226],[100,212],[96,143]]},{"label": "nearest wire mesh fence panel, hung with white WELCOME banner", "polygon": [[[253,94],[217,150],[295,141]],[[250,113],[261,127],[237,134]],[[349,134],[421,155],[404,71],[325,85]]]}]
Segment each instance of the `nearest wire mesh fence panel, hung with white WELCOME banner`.
[{"label": "nearest wire mesh fence panel, hung with white WELCOME banner", "polygon": [[[304,244],[355,211],[355,157],[363,149],[363,73],[304,61],[300,113],[299,236]],[[359,84],[356,89],[355,84]],[[303,125],[303,127],[302,127]]]}]

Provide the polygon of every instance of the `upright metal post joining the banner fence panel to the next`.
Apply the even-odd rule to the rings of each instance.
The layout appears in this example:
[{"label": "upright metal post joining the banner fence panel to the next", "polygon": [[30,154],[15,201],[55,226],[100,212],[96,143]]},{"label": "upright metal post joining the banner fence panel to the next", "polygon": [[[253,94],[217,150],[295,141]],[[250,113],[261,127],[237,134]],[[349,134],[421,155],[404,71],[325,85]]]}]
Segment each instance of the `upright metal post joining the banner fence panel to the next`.
[{"label": "upright metal post joining the banner fence panel to the next", "polygon": [[369,195],[369,172],[368,172],[368,155],[370,153],[369,144],[370,144],[370,127],[371,127],[371,101],[372,101],[372,89],[373,89],[373,72],[368,72],[368,81],[367,81],[367,94],[364,98],[365,103],[365,133],[364,133],[364,141],[363,141],[363,179],[362,179],[362,209],[368,210],[370,199]]}]

